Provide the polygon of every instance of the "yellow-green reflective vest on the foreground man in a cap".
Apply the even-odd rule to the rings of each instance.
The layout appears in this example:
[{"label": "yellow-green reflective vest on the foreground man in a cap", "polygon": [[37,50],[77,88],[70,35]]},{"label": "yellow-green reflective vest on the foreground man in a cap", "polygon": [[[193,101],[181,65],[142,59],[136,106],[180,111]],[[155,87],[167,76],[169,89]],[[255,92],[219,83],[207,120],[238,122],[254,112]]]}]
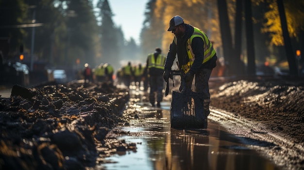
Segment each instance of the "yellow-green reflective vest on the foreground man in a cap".
[{"label": "yellow-green reflective vest on the foreground man in a cap", "polygon": [[[187,73],[190,70],[190,67],[192,66],[192,64],[194,62],[195,56],[193,54],[191,43],[192,43],[193,38],[195,38],[195,37],[200,37],[203,39],[204,56],[203,56],[202,64],[205,62],[208,62],[216,54],[216,51],[214,50],[211,41],[209,41],[209,39],[207,38],[207,35],[202,30],[194,27],[193,34],[187,40],[187,44],[186,44],[189,62],[185,65],[182,65],[182,69],[184,70],[185,73]],[[174,42],[176,43],[176,40],[174,40]]]}]

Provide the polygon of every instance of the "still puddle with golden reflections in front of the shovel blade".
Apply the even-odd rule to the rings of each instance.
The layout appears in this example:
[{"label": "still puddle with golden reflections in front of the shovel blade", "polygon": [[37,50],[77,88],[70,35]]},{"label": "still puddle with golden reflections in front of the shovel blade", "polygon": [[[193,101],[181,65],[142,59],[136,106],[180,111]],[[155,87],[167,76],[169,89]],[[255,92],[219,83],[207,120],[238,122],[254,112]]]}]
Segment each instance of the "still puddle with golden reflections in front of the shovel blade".
[{"label": "still puddle with golden reflections in front of the shovel blade", "polygon": [[[132,136],[121,136],[135,142],[136,152],[115,155],[117,162],[104,164],[106,170],[276,170],[268,160],[224,132],[218,124],[208,129],[177,130],[127,127]],[[140,136],[138,134],[145,135]],[[147,135],[149,134],[149,135]]]}]

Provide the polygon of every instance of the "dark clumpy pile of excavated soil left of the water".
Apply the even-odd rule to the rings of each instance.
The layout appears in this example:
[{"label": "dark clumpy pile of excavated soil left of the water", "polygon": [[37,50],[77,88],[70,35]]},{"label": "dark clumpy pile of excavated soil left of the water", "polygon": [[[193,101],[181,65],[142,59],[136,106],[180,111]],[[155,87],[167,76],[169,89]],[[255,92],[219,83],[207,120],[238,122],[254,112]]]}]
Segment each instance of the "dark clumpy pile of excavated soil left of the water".
[{"label": "dark clumpy pile of excavated soil left of the water", "polygon": [[111,84],[15,85],[0,98],[1,170],[81,170],[134,143],[105,139],[129,100]]}]

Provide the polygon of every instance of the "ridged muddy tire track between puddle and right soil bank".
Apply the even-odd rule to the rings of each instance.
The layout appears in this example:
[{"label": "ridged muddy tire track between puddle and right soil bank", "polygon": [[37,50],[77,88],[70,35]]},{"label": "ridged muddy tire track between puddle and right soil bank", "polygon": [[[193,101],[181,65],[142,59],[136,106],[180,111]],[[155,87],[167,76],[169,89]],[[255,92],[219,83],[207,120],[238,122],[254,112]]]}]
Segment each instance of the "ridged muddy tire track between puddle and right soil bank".
[{"label": "ridged muddy tire track between puddle and right soil bank", "polygon": [[249,148],[258,151],[280,168],[304,169],[304,146],[292,142],[281,133],[271,133],[267,125],[214,107],[210,108],[208,119],[222,125]]}]

